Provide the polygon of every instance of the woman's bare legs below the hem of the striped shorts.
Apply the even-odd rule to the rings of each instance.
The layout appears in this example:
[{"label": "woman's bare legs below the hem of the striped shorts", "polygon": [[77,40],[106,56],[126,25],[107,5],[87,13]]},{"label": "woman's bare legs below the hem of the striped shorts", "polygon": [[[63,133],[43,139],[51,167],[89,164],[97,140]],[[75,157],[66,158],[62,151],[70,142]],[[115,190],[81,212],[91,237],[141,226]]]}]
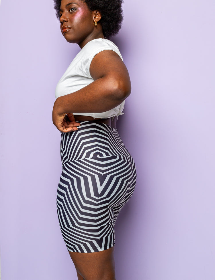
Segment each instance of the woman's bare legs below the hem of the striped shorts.
[{"label": "woman's bare legs below the hem of the striped shorts", "polygon": [[[95,253],[69,252],[77,270],[78,280],[116,280],[114,246]],[[82,276],[82,278],[80,277]]]}]

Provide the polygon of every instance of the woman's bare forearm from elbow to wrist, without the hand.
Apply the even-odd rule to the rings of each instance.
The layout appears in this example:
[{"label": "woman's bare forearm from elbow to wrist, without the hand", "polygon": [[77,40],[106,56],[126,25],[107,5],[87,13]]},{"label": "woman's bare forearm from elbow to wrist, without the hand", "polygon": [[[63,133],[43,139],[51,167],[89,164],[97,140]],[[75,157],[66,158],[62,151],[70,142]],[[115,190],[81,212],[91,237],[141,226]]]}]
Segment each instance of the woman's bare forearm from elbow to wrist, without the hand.
[{"label": "woman's bare forearm from elbow to wrist, without the hand", "polygon": [[107,75],[76,92],[58,97],[54,109],[59,114],[101,113],[121,104],[130,91],[130,80]]}]

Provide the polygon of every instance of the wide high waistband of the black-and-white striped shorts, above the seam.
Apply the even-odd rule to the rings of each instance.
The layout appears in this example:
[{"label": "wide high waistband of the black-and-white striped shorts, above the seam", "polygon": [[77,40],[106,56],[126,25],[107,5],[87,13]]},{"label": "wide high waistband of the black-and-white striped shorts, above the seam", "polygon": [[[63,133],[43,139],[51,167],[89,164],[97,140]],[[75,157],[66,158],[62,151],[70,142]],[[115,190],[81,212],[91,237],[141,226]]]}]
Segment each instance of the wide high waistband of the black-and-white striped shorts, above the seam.
[{"label": "wide high waistband of the black-and-white striped shorts, above the seam", "polygon": [[61,133],[62,164],[92,157],[129,156],[117,129],[97,121],[80,121],[77,131]]}]

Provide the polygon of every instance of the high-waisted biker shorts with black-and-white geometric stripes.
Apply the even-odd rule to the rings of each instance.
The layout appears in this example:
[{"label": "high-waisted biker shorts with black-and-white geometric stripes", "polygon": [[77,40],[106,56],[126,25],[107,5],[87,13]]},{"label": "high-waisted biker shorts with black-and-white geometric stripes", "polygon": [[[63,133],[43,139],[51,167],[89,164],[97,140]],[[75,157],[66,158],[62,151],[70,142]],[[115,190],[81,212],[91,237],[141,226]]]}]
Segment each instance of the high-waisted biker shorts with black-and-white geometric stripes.
[{"label": "high-waisted biker shorts with black-and-white geometric stripes", "polygon": [[61,133],[57,212],[67,249],[90,253],[114,246],[114,224],[134,191],[136,168],[117,129],[80,123]]}]

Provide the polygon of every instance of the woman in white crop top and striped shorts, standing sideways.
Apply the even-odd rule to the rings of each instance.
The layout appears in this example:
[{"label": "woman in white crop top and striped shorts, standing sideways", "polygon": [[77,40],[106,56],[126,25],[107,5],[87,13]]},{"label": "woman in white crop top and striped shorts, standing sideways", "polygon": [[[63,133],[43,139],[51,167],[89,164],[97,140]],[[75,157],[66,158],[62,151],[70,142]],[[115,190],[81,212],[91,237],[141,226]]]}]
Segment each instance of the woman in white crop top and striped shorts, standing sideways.
[{"label": "woman in white crop top and striped shorts, standing sideways", "polygon": [[79,280],[114,280],[114,224],[136,182],[116,129],[130,78],[105,39],[120,29],[122,0],[54,2],[63,36],[81,48],[57,84],[52,115],[61,132],[60,228]]}]

